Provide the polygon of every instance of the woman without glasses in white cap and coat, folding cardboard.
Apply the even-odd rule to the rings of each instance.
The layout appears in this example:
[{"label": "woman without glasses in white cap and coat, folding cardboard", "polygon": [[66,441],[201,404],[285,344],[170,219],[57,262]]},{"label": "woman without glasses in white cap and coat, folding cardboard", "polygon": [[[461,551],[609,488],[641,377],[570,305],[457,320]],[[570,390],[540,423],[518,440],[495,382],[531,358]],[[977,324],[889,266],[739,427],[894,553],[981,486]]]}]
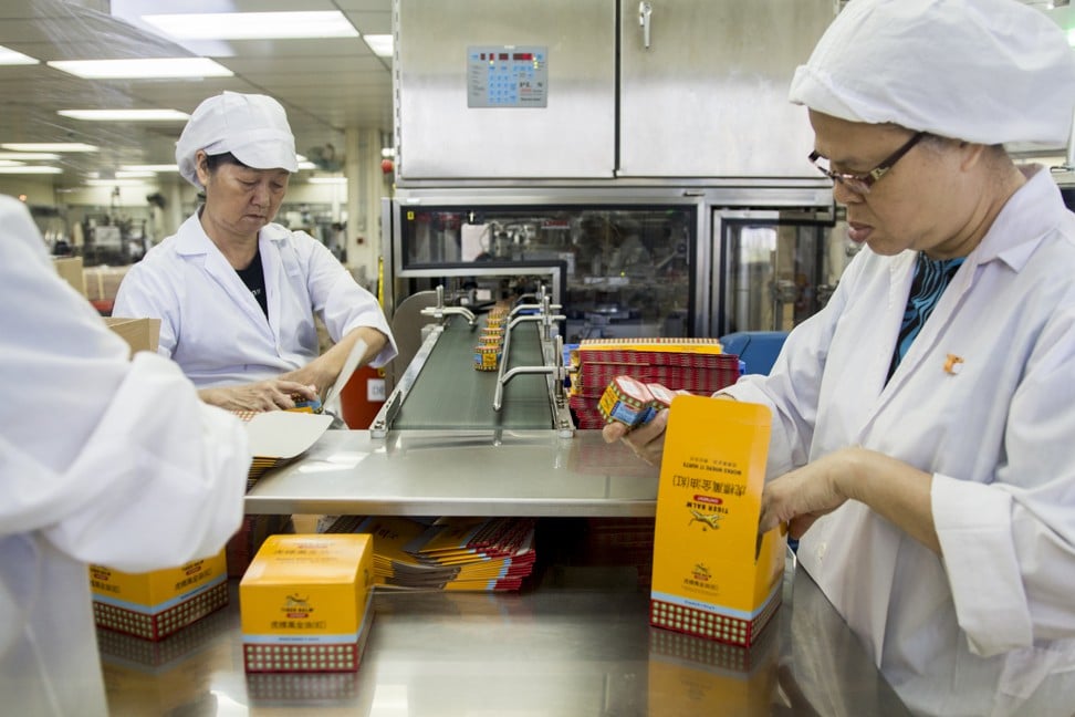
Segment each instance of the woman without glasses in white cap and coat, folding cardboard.
[{"label": "woman without glasses in white cap and coat, folding cardboard", "polygon": [[[396,355],[376,299],[327,248],[273,224],[298,169],[283,107],[225,92],[194,112],[176,144],[205,204],[134,264],[114,315],[161,320],[158,351],[202,398],[231,409],[292,408],[333,385],[357,341],[363,363]],[[335,342],[320,354],[314,315]]]}]

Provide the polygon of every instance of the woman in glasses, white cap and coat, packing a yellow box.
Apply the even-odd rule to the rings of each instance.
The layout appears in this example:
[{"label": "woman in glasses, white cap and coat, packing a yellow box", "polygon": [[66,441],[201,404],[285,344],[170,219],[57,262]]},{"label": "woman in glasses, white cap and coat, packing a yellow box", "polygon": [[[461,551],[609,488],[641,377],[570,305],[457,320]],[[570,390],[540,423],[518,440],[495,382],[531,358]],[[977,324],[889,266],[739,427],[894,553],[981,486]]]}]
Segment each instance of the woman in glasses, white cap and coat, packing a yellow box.
[{"label": "woman in glasses, white cap and coat, packing a yellow box", "polygon": [[[916,711],[1069,716],[1075,216],[1003,144],[1067,141],[1072,50],[1014,0],[856,0],[791,100],[864,248],[721,392],[773,412],[761,529]],[[665,420],[628,443],[656,460]]]}]

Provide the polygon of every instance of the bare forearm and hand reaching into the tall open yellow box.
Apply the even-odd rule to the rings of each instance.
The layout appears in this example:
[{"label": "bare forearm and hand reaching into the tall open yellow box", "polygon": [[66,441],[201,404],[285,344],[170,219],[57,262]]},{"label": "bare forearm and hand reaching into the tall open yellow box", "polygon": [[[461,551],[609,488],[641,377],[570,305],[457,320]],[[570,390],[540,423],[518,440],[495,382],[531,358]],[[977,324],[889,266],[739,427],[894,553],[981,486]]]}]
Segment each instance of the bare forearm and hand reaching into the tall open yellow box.
[{"label": "bare forearm and hand reaching into the tall open yellow box", "polygon": [[787,523],[800,538],[822,516],[857,500],[940,553],[932,482],[930,474],[876,450],[843,448],[765,484],[759,531]]}]

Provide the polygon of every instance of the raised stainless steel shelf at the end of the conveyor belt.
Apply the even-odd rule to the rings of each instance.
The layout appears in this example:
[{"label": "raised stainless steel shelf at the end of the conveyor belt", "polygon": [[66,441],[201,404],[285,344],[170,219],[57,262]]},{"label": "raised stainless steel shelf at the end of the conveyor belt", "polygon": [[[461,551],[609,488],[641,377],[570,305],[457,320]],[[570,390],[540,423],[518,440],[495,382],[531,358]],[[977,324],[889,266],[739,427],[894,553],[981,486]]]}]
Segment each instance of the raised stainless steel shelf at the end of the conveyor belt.
[{"label": "raised stainless steel shelf at the end of the conveyor belt", "polygon": [[248,513],[655,515],[658,469],[596,430],[330,430],[262,477]]}]

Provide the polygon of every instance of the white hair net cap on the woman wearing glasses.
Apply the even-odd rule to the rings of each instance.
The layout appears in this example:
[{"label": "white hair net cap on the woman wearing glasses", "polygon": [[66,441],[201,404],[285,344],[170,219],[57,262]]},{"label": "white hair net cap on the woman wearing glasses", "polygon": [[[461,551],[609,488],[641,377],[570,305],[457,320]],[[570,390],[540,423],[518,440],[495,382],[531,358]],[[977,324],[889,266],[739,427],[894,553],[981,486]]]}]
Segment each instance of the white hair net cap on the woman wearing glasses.
[{"label": "white hair net cap on the woman wearing glasses", "polygon": [[1015,0],[852,0],[789,98],[850,122],[1057,147],[1075,112],[1075,58],[1055,22]]}]

